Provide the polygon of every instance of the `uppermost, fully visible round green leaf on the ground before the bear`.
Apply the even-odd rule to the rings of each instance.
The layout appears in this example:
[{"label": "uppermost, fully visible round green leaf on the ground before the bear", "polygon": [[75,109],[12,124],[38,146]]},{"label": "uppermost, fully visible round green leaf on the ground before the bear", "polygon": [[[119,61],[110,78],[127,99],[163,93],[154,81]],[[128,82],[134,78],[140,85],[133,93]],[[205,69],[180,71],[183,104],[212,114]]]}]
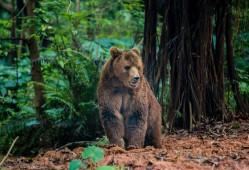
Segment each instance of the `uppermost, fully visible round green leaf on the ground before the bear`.
[{"label": "uppermost, fully visible round green leaf on the ground before the bear", "polygon": [[84,149],[81,157],[83,159],[89,158],[92,162],[99,162],[104,157],[104,151],[96,146],[88,146]]}]

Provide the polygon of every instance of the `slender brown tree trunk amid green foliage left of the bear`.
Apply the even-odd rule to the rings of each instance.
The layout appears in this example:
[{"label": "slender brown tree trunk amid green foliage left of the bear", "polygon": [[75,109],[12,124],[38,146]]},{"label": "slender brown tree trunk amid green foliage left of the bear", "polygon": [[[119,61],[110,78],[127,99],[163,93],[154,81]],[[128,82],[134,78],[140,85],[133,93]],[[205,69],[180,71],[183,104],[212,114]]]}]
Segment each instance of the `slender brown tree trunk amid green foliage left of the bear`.
[{"label": "slender brown tree trunk amid green foliage left of the bear", "polygon": [[[35,83],[44,83],[41,67],[39,64],[39,49],[38,44],[35,39],[36,34],[36,24],[34,20],[34,9],[35,9],[35,3],[31,0],[27,2],[26,10],[27,15],[30,17],[31,25],[29,28],[29,36],[30,38],[27,40],[27,45],[29,49],[29,55],[31,60],[31,80]],[[41,85],[34,84],[34,90],[35,90],[35,98],[34,98],[34,104],[36,113],[38,114],[40,121],[44,123],[46,120],[44,120],[44,112],[42,109],[42,105],[45,103],[45,98],[43,95],[44,88]]]}]

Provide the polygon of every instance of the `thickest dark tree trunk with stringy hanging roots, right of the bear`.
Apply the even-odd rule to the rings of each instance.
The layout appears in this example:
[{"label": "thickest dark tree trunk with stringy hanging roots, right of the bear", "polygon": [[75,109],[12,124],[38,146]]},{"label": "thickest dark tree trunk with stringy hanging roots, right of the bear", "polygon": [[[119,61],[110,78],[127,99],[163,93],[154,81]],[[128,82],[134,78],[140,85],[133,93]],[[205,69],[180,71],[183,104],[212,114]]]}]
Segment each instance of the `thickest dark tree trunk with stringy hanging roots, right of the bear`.
[{"label": "thickest dark tree trunk with stringy hanging roots, right of the bear", "polygon": [[170,127],[200,128],[201,122],[221,119],[225,112],[224,22],[213,49],[213,12],[213,1],[170,1]]}]

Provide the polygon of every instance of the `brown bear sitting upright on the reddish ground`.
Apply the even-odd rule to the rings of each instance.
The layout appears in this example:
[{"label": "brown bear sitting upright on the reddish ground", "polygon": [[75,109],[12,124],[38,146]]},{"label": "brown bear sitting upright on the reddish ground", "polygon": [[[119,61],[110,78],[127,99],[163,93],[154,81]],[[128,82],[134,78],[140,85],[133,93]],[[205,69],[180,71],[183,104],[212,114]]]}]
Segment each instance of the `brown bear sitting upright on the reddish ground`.
[{"label": "brown bear sitting upright on the reddish ground", "polygon": [[[109,142],[161,147],[161,106],[143,75],[138,48],[110,48],[98,84],[100,119]],[[123,143],[124,142],[124,143]]]}]

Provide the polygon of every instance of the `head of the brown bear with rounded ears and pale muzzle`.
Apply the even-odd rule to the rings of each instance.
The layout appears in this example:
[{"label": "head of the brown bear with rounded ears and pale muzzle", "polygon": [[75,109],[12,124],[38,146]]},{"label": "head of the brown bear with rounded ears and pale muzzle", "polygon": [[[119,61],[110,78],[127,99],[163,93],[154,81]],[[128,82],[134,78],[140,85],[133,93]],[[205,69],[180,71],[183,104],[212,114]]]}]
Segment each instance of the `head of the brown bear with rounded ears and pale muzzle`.
[{"label": "head of the brown bear with rounded ears and pale muzzle", "polygon": [[143,79],[143,62],[138,48],[121,51],[110,48],[114,75],[127,88],[137,88]]}]

